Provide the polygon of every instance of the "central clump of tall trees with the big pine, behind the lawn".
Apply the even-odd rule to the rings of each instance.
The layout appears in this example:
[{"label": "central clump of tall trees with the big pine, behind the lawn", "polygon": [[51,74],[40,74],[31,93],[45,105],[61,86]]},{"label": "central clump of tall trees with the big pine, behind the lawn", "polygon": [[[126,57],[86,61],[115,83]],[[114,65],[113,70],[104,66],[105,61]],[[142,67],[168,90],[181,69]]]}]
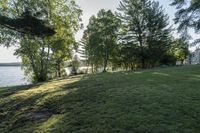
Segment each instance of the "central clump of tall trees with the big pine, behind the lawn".
[{"label": "central clump of tall trees with the big pine, behind the lawn", "polygon": [[115,15],[101,10],[90,18],[83,40],[88,61],[103,71],[173,65],[187,54],[181,41],[176,44],[183,51],[176,53],[185,55],[171,53],[175,43],[169,17],[159,2],[151,0],[122,0]]}]

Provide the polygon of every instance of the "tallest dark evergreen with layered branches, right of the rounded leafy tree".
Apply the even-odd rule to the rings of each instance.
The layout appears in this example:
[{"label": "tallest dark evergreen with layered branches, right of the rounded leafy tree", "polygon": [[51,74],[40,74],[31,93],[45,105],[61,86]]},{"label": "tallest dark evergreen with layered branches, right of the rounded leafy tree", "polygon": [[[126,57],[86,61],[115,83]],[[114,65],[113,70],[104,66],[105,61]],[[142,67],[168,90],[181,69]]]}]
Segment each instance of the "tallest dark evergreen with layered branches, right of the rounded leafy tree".
[{"label": "tallest dark evergreen with layered branches, right of the rounded leafy tree", "polygon": [[122,0],[118,17],[122,21],[121,48],[129,64],[143,69],[161,64],[169,49],[171,29],[159,2]]}]

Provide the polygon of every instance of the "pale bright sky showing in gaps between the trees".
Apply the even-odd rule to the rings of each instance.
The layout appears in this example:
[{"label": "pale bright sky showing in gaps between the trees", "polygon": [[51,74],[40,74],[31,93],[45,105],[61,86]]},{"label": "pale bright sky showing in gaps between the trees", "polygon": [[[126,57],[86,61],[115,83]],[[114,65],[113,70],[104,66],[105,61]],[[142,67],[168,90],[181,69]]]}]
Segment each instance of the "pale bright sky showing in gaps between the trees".
[{"label": "pale bright sky showing in gaps between the trees", "polygon": [[[170,24],[173,25],[173,18],[174,14],[176,12],[174,7],[169,6],[171,0],[156,0],[159,1],[160,4],[165,9],[165,12],[170,17]],[[76,3],[81,7],[83,10],[83,24],[84,27],[87,26],[89,22],[89,18],[92,15],[96,15],[100,9],[106,9],[106,10],[112,10],[116,11],[117,7],[120,3],[120,0],[76,0]],[[77,41],[80,40],[82,37],[83,30],[80,30],[77,35],[76,39]],[[176,36],[176,34],[175,34]],[[14,56],[14,50],[15,48],[5,48],[0,46],[0,63],[8,63],[8,62],[19,62],[21,59],[17,59],[16,56]]]}]

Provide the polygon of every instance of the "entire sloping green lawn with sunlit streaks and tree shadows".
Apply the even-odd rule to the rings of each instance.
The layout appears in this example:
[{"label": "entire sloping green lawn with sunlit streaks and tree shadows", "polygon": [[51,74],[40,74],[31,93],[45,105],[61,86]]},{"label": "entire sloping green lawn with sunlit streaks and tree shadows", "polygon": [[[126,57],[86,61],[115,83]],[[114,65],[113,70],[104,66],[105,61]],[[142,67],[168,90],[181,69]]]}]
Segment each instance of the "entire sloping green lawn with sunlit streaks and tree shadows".
[{"label": "entire sloping green lawn with sunlit streaks and tree shadows", "polygon": [[200,132],[200,66],[0,89],[0,133],[162,132]]}]

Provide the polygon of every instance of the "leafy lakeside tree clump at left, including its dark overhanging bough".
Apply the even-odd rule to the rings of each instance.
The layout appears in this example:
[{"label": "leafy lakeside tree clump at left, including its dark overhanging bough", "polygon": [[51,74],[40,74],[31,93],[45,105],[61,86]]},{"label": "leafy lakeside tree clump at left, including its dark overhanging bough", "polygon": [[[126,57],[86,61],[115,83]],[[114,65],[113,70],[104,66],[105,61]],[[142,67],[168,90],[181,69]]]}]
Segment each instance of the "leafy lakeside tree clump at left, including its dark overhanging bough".
[{"label": "leafy lakeside tree clump at left, including its dark overhanging bough", "polygon": [[3,0],[0,41],[17,45],[15,55],[35,82],[62,76],[71,57],[82,11],[74,0]]}]

